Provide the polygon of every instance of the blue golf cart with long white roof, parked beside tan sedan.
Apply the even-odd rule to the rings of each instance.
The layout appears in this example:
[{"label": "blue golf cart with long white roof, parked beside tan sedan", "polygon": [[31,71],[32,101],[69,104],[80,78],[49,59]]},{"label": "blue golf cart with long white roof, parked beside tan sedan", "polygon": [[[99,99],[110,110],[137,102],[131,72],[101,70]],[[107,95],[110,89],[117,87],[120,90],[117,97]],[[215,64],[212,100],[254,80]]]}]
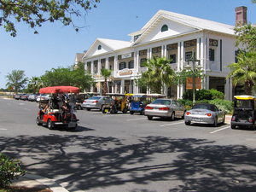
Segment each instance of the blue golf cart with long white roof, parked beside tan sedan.
[{"label": "blue golf cart with long white roof, parked beside tan sedan", "polygon": [[166,96],[160,95],[160,94],[143,94],[143,93],[133,94],[133,96],[131,96],[130,113],[144,114],[144,109],[146,108],[146,105],[153,102],[155,99],[164,98],[164,97]]}]

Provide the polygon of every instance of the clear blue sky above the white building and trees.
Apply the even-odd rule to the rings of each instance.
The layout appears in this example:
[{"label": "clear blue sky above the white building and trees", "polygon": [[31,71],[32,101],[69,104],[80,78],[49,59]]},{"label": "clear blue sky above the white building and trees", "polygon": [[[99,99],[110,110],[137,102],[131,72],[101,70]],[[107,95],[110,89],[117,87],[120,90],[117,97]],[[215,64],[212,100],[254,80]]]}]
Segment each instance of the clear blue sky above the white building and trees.
[{"label": "clear blue sky above the white building and trees", "polygon": [[234,26],[235,8],[240,6],[247,7],[247,20],[256,23],[256,4],[251,0],[101,0],[85,20],[75,20],[87,26],[80,32],[56,21],[37,28],[35,35],[20,22],[12,38],[0,27],[0,88],[6,88],[5,75],[15,69],[32,78],[51,68],[73,65],[76,53],[89,49],[96,38],[130,41],[127,34],[139,31],[160,9]]}]

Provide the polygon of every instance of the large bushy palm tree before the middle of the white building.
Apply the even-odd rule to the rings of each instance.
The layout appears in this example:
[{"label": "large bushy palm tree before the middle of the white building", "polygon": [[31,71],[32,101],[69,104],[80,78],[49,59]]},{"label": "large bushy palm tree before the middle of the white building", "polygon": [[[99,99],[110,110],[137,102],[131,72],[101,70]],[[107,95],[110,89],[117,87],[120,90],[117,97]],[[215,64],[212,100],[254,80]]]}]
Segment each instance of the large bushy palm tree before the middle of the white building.
[{"label": "large bushy palm tree before the middle of the white building", "polygon": [[175,72],[169,65],[171,61],[166,57],[153,56],[143,63],[144,67],[148,67],[148,71],[142,73],[142,79],[148,82],[148,88],[153,93],[161,93],[163,85],[169,86],[175,79]]}]

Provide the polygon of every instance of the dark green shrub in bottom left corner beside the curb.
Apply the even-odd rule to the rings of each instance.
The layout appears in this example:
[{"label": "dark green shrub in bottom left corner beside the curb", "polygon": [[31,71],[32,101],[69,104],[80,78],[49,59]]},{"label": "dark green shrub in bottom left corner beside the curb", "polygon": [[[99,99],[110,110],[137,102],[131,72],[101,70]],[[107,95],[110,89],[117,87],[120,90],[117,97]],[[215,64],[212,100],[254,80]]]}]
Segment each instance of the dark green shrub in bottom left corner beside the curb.
[{"label": "dark green shrub in bottom left corner beside the curb", "polygon": [[25,175],[26,171],[20,168],[20,160],[9,159],[6,154],[0,154],[0,187],[10,185],[14,178]]}]

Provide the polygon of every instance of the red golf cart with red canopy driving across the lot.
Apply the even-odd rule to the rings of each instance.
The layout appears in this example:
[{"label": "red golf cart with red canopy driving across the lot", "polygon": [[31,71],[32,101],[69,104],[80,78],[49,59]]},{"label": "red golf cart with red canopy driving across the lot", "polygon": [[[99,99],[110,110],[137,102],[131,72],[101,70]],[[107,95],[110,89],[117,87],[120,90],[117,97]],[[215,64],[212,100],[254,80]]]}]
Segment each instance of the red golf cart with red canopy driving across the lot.
[{"label": "red golf cart with red canopy driving across the lot", "polygon": [[[55,86],[44,87],[39,90],[41,94],[50,94],[49,100],[40,100],[37,124],[46,124],[49,129],[55,126],[68,126],[75,129],[79,119],[69,105],[67,93],[79,93],[78,87]],[[66,94],[66,96],[65,96]]]}]

